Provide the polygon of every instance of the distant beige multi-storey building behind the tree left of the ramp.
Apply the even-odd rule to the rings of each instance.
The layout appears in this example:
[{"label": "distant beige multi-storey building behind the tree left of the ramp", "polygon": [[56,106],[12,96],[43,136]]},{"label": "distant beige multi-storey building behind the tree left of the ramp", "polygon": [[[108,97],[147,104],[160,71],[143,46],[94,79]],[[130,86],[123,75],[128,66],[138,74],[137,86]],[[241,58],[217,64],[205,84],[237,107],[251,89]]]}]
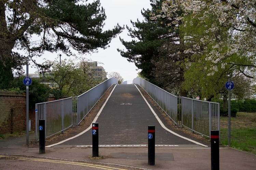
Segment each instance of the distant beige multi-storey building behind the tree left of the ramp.
[{"label": "distant beige multi-storey building behind the tree left of the ramp", "polygon": [[106,79],[106,71],[102,66],[98,66],[98,62],[81,62],[80,68],[96,80]]}]

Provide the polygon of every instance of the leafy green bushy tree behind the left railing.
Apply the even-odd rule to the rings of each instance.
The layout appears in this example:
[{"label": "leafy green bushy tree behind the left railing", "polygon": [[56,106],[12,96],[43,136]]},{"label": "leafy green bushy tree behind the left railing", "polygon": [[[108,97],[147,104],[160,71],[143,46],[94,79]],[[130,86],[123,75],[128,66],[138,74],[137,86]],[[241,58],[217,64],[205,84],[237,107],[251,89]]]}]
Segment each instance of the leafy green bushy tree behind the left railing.
[{"label": "leafy green bushy tree behind the left railing", "polygon": [[98,75],[99,72],[91,66],[74,63],[71,60],[62,60],[60,65],[56,58],[55,61],[46,61],[45,65],[50,68],[44,71],[42,79],[58,88],[61,96],[79,96],[104,81],[103,76],[95,79],[95,73]]}]

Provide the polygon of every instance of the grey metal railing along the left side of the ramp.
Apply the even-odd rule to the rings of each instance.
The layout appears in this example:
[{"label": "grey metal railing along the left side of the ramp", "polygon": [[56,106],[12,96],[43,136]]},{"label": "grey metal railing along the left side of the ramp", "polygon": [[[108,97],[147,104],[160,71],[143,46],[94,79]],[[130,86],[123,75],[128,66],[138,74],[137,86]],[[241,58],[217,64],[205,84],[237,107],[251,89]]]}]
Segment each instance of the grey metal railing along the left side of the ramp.
[{"label": "grey metal railing along the left side of the ramp", "polygon": [[[116,78],[108,79],[78,97],[35,104],[35,127],[39,120],[45,120],[45,137],[50,137],[78,125],[113,84],[117,84]],[[38,140],[38,128],[35,139]]]}]

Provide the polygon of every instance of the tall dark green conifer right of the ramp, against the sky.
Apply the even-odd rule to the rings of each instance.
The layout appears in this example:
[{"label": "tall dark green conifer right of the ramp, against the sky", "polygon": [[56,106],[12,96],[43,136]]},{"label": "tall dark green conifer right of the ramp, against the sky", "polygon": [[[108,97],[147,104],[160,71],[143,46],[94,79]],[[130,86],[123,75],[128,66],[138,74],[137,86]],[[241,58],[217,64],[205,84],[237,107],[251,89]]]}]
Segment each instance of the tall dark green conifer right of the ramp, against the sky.
[{"label": "tall dark green conifer right of the ramp, against the sky", "polygon": [[152,64],[152,60],[156,61],[158,58],[158,48],[166,42],[171,41],[175,35],[169,33],[169,28],[161,21],[164,19],[151,20],[151,13],[156,13],[161,8],[161,2],[163,0],[151,0],[152,10],[141,11],[144,19],[142,22],[137,20],[131,21],[133,28],[126,27],[129,31],[129,36],[133,38],[132,41],[125,41],[120,38],[120,41],[127,49],[117,49],[120,54],[127,58],[129,62],[133,62],[139,69],[140,74],[147,78],[152,83],[155,82],[155,78],[152,75],[152,70],[155,67]]}]

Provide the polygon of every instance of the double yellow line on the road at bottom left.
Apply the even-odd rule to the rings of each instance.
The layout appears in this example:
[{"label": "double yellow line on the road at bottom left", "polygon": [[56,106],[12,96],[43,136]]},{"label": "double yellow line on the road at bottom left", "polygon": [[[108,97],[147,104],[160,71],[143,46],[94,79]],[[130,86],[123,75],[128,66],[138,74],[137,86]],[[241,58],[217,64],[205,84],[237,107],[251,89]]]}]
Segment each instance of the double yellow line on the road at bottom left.
[{"label": "double yellow line on the road at bottom left", "polygon": [[28,160],[28,161],[38,161],[38,162],[49,162],[49,163],[58,163],[58,164],[69,164],[69,165],[78,165],[84,167],[91,167],[91,168],[98,168],[98,169],[106,169],[106,170],[126,170],[120,168],[113,168],[108,166],[102,165],[95,165],[95,164],[87,164],[87,163],[79,163],[79,162],[69,162],[69,161],[62,161],[62,160],[51,160],[51,159],[36,159],[36,158],[23,158],[23,157],[10,157],[10,156],[1,156],[1,158],[6,159],[18,159],[18,160]]}]

